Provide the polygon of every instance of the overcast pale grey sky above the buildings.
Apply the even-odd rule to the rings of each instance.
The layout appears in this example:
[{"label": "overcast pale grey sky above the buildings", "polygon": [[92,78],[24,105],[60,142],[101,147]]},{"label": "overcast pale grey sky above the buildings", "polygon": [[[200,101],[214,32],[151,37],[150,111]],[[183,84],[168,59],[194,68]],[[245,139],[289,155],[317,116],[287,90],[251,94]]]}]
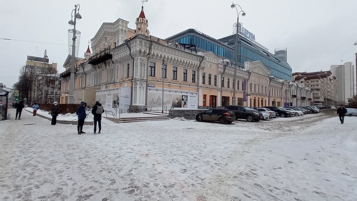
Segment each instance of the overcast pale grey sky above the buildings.
[{"label": "overcast pale grey sky above the buildings", "polygon": [[[11,87],[27,55],[58,63],[59,72],[68,55],[68,24],[74,4],[80,4],[82,19],[78,56],[103,22],[135,19],[141,0],[0,0],[0,82]],[[234,0],[245,11],[243,27],[258,43],[274,53],[288,48],[288,63],[295,71],[329,70],[331,65],[353,62],[356,66],[357,0]],[[144,12],[150,34],[162,39],[194,28],[213,38],[233,33],[237,11],[232,0],[148,0]],[[15,41],[22,40],[22,41]],[[41,43],[24,42],[36,41]],[[45,44],[52,43],[52,44]],[[55,45],[61,44],[61,45]],[[341,60],[343,62],[341,62]]]}]

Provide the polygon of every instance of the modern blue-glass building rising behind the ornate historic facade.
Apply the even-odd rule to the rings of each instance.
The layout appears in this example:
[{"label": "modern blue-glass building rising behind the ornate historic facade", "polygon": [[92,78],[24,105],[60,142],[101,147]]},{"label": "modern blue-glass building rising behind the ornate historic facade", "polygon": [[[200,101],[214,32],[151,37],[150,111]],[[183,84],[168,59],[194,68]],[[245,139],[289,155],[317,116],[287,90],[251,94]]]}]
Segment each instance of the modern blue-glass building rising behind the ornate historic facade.
[{"label": "modern blue-glass building rising behind the ornate historic facade", "polygon": [[[270,74],[278,79],[291,81],[293,70],[290,65],[274,54],[268,52],[265,48],[248,40],[239,34],[240,46],[238,46],[238,67],[244,68],[244,62],[261,61],[270,69]],[[234,61],[234,52],[236,45],[236,34],[222,38],[214,39],[195,29],[187,29],[166,40],[180,44],[195,45],[198,51],[209,51],[223,58]]]}]

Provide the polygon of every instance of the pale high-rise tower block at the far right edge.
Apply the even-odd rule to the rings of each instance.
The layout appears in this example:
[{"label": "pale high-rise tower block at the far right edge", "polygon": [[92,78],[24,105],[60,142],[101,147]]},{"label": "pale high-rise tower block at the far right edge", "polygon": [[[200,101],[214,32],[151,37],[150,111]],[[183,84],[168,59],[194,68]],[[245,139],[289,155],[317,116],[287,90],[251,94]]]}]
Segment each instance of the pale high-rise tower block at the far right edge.
[{"label": "pale high-rise tower block at the far right edge", "polygon": [[338,103],[348,104],[348,98],[355,96],[355,67],[352,62],[344,65],[332,65],[331,72],[337,78],[338,83]]}]

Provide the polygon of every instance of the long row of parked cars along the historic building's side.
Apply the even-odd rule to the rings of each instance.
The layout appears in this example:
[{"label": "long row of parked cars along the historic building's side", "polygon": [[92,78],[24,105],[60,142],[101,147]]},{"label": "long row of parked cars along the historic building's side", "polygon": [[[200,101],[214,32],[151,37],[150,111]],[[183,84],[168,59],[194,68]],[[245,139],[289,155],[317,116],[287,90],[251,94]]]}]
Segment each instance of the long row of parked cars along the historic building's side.
[{"label": "long row of parked cars along the historic building's side", "polygon": [[250,108],[239,105],[229,105],[225,108],[211,108],[196,115],[196,121],[220,122],[229,124],[238,119],[245,119],[248,122],[259,122],[276,117],[292,117],[304,114],[319,113],[320,109],[314,106],[305,107],[261,107]]}]

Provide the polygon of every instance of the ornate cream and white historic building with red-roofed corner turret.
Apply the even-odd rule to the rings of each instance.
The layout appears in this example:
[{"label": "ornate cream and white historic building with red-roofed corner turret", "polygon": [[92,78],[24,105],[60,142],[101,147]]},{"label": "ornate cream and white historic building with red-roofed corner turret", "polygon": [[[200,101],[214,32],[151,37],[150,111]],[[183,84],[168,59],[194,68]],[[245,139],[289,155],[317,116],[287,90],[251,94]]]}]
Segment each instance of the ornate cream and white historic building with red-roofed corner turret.
[{"label": "ornate cream and white historic building with red-roofed corner turret", "polygon": [[[118,106],[123,111],[130,105],[160,111],[163,106],[222,107],[232,104],[234,84],[239,105],[284,106],[290,100],[289,83],[269,76],[260,61],[237,69],[234,83],[229,60],[151,36],[143,7],[136,29],[129,29],[128,23],[103,23],[91,40],[93,55],[77,60],[75,103],[84,100],[91,105],[98,100],[106,110]],[[63,97],[65,101],[67,95]]]}]

